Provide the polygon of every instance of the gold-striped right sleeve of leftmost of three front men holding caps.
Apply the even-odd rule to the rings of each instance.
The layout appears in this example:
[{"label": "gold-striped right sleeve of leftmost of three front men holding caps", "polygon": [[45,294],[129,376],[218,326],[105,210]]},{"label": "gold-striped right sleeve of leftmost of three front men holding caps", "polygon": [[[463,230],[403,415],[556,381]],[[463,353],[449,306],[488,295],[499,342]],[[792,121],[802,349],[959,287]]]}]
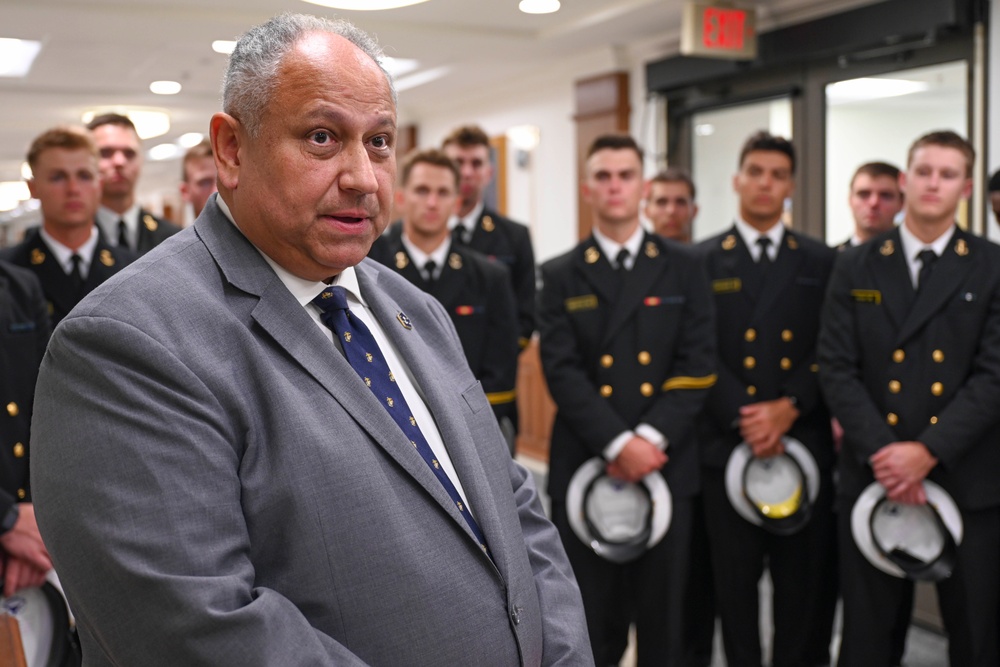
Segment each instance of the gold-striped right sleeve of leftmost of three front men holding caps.
[{"label": "gold-striped right sleeve of leftmost of three front men holding caps", "polygon": [[717,380],[714,304],[708,276],[697,262],[692,262],[688,272],[682,322],[670,376],[660,387],[659,398],[640,420],[670,443],[687,438],[709,388]]}]

